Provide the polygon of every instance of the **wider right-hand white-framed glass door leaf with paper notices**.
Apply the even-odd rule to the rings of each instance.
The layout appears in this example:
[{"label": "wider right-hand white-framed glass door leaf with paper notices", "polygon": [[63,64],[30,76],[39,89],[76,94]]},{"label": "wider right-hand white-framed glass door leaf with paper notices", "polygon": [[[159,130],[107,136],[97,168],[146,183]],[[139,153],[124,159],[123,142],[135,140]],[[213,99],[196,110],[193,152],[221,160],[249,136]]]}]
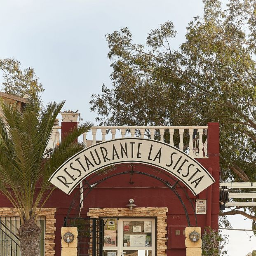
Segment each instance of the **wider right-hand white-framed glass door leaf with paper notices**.
[{"label": "wider right-hand white-framed glass door leaf with paper notices", "polygon": [[121,219],[121,256],[154,256],[154,219]]}]

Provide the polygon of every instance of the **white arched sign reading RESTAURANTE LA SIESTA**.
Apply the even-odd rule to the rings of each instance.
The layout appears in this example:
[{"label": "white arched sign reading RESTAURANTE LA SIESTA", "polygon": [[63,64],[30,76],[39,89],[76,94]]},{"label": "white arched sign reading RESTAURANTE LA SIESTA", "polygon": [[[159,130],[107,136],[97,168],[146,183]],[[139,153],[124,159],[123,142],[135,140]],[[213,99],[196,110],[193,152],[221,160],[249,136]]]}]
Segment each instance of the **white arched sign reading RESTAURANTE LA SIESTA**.
[{"label": "white arched sign reading RESTAURANTE LA SIESTA", "polygon": [[97,143],[70,157],[49,178],[66,194],[103,167],[139,162],[158,167],[181,180],[194,195],[214,183],[214,178],[195,159],[167,143],[142,138],[121,138]]}]

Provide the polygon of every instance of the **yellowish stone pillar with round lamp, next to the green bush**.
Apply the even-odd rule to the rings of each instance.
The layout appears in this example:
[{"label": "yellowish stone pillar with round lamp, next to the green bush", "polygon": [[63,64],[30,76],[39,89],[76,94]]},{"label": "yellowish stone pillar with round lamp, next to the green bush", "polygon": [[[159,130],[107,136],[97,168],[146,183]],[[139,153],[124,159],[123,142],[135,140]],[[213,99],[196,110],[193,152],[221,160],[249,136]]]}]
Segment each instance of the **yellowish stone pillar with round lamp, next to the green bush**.
[{"label": "yellowish stone pillar with round lamp, next to the green bush", "polygon": [[[189,239],[189,234],[193,231],[200,234],[200,239],[197,242],[192,242]],[[201,227],[187,227],[185,228],[185,235],[186,256],[202,256]]]}]

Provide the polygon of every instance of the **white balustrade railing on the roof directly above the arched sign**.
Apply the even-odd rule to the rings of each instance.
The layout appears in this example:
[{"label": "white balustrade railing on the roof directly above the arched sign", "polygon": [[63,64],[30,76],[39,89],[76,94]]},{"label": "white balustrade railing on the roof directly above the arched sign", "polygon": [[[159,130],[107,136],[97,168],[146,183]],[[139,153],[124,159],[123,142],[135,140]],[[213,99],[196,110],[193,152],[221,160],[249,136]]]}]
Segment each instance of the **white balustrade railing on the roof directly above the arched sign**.
[{"label": "white balustrade railing on the roof directly above the arched sign", "polygon": [[[180,148],[191,157],[203,158],[207,157],[207,139],[203,141],[203,135],[207,136],[207,128],[207,126],[94,126],[90,132],[83,134],[83,142],[91,146],[99,141],[117,138],[158,139]],[[92,135],[92,140],[87,140],[89,133]],[[177,140],[178,144],[174,145]]]}]

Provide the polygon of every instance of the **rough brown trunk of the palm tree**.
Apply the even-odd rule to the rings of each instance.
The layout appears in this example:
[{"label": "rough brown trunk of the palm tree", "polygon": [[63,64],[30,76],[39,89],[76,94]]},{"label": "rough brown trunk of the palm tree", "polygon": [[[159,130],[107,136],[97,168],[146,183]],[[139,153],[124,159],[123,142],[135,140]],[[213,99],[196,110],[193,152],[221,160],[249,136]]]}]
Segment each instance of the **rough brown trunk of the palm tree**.
[{"label": "rough brown trunk of the palm tree", "polygon": [[24,220],[18,229],[22,256],[40,256],[40,232],[35,219]]}]

